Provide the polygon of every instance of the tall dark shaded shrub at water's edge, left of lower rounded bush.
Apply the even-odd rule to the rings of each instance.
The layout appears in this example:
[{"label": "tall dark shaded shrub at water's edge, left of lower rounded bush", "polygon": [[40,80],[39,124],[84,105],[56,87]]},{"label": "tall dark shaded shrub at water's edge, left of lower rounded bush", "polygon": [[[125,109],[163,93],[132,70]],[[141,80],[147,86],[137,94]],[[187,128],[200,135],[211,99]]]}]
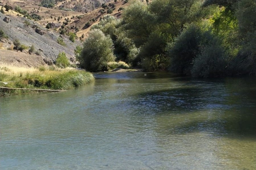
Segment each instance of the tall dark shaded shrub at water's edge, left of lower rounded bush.
[{"label": "tall dark shaded shrub at water's edge, left of lower rounded bush", "polygon": [[197,25],[191,25],[181,35],[167,46],[167,56],[170,57],[169,70],[182,75],[191,74],[192,61],[200,55],[200,46],[209,44],[212,35]]}]

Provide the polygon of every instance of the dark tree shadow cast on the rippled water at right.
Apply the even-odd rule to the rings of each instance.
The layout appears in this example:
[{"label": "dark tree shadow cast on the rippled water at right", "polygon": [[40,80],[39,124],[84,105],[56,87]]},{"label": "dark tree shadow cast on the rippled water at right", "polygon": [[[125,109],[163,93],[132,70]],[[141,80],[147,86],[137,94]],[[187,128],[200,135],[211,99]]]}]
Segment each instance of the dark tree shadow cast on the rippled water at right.
[{"label": "dark tree shadow cast on the rippled water at right", "polygon": [[200,131],[256,139],[256,88],[251,80],[186,80],[172,79],[164,89],[135,94],[130,105],[137,106],[136,114],[154,116],[164,126],[160,134]]}]

